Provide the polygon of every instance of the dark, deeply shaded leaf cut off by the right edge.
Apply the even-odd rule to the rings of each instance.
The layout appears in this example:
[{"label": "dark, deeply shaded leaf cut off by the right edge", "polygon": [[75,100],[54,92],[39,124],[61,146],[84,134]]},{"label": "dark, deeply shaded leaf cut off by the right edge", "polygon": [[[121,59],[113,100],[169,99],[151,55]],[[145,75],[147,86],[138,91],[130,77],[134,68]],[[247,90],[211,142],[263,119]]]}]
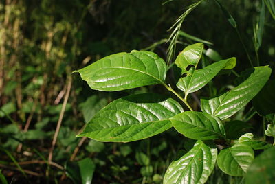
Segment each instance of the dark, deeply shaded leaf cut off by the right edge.
[{"label": "dark, deeply shaded leaf cut off by the right edge", "polygon": [[253,107],[260,115],[275,113],[275,80],[269,80],[252,100]]}]

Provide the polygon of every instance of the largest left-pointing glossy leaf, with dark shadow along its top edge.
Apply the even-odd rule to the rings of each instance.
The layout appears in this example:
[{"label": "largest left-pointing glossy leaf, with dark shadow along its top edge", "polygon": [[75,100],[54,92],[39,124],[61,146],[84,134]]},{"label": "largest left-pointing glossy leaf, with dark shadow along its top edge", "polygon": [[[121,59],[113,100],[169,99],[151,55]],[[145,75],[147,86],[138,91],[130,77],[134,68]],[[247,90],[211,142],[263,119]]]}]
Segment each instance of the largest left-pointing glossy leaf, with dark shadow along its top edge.
[{"label": "largest left-pointing glossy leaf, with dark shadow along its top edge", "polygon": [[102,108],[78,136],[113,142],[145,139],[171,128],[169,118],[182,111],[171,98],[157,94],[130,95]]}]

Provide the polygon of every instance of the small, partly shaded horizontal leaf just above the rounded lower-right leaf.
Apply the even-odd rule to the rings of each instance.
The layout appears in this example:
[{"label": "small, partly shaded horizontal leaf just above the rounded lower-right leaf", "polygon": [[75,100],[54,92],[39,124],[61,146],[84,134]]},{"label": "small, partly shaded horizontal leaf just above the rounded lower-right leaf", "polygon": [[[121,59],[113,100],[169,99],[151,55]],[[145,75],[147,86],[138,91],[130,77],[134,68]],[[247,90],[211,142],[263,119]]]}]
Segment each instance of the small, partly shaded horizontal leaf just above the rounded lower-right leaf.
[{"label": "small, partly shaded horizontal leaf just above the rounded lower-right leaf", "polygon": [[254,150],[264,150],[272,146],[271,143],[267,143],[265,141],[260,140],[254,140],[253,136],[254,135],[252,133],[246,133],[239,138],[239,143],[245,143]]}]

